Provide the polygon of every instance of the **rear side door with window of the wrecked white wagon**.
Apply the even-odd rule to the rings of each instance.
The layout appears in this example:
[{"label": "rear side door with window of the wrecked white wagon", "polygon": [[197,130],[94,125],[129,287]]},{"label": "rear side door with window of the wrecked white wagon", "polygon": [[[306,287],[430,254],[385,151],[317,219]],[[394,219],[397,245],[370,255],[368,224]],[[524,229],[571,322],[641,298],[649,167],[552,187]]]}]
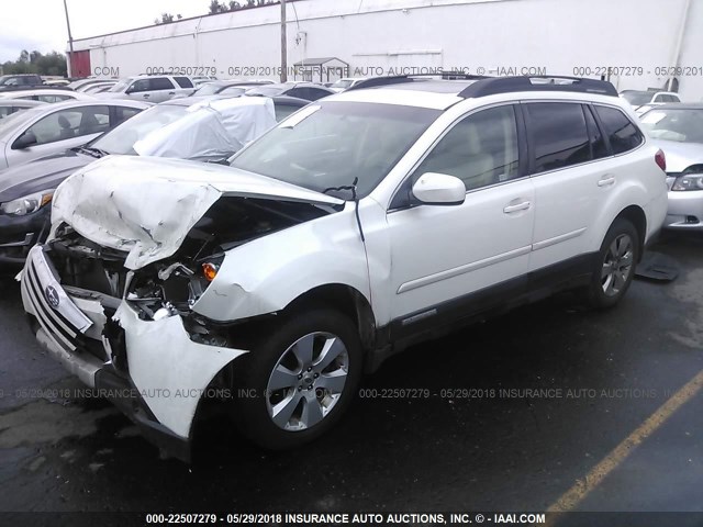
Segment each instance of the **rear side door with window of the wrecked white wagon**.
[{"label": "rear side door with window of the wrecked white wagon", "polygon": [[587,231],[617,180],[598,161],[609,150],[589,105],[529,101],[522,108],[535,186],[534,271],[590,250]]}]

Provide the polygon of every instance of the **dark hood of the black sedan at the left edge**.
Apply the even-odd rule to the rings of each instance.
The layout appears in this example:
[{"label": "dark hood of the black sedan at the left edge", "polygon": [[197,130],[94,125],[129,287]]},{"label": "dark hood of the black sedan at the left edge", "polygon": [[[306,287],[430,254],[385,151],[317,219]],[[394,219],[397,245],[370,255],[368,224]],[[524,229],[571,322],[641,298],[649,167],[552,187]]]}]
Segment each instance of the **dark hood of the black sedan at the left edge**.
[{"label": "dark hood of the black sedan at the left edge", "polygon": [[74,150],[10,167],[0,172],[0,203],[58,187],[68,176],[96,158]]}]

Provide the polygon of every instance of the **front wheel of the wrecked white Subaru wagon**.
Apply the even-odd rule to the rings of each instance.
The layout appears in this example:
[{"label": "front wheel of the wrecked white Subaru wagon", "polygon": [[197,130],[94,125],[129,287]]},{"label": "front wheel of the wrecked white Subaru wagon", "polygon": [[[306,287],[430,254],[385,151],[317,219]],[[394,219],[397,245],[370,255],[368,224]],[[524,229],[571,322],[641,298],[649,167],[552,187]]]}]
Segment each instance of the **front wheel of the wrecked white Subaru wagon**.
[{"label": "front wheel of the wrecked white Subaru wagon", "polygon": [[247,355],[234,379],[235,393],[248,395],[235,397],[232,416],[244,436],[270,450],[299,447],[332,428],[362,371],[356,326],[326,309],[288,317]]}]

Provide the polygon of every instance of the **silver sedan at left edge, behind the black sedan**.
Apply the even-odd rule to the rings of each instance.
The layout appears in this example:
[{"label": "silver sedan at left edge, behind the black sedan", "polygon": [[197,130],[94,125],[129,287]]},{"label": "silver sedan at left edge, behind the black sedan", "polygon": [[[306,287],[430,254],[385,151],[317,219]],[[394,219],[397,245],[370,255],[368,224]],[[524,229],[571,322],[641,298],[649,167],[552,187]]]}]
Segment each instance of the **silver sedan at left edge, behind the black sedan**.
[{"label": "silver sedan at left edge, behind the black sedan", "polygon": [[141,101],[70,101],[0,121],[0,170],[83,145],[150,106]]}]

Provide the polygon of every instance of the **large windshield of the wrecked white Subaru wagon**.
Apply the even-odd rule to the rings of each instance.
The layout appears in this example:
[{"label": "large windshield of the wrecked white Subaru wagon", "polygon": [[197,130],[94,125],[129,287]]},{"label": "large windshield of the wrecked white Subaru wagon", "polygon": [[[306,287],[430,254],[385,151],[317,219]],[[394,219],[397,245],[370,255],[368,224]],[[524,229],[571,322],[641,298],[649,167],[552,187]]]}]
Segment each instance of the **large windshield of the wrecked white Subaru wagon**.
[{"label": "large windshield of the wrecked white Subaru wagon", "polygon": [[[232,166],[324,191],[368,194],[439,115],[437,110],[361,102],[305,106],[241,152]],[[350,199],[349,192],[335,192]]]}]

